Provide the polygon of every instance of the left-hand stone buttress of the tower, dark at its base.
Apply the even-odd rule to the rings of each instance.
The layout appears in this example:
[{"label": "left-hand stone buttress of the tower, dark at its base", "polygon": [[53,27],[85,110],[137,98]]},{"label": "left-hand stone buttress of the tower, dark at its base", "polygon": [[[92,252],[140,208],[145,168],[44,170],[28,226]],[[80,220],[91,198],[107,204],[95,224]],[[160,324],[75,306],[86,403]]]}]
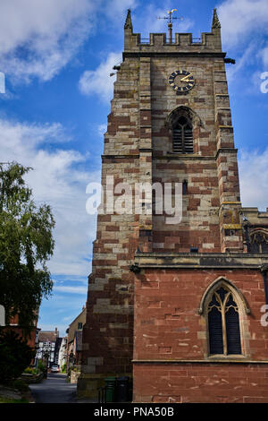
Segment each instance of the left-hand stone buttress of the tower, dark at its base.
[{"label": "left-hand stone buttress of the tower, dark at its base", "polygon": [[123,191],[113,197],[114,187],[138,182],[138,143],[138,63],[127,59],[114,83],[102,157],[105,211],[97,217],[83,330],[83,378],[79,382],[81,394],[88,396],[96,396],[106,375],[131,373],[133,273],[129,266],[138,246],[138,218],[134,213],[114,213],[107,197],[111,193],[112,206],[116,206]]}]

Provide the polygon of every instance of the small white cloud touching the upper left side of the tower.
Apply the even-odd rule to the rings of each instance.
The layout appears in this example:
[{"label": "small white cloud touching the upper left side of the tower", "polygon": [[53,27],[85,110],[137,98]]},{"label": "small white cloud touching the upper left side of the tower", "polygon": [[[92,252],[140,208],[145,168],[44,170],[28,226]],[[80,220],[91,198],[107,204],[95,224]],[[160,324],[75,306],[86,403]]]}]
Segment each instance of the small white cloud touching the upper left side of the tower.
[{"label": "small white cloud touching the upper left side of the tower", "polygon": [[121,53],[110,53],[106,60],[99,64],[96,70],[87,70],[80,77],[80,91],[85,95],[96,94],[102,101],[109,102],[113,97],[113,82],[110,77],[115,64],[120,64]]}]

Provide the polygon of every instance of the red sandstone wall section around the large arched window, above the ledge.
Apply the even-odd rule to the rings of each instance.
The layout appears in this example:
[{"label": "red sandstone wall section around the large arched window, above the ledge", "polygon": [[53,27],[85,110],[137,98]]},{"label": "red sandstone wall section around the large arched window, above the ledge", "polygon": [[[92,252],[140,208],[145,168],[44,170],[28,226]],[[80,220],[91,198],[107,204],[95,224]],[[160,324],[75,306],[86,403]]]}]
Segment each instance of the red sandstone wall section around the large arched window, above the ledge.
[{"label": "red sandstone wall section around the large arched window, above the ledge", "polygon": [[153,269],[136,279],[134,359],[204,359],[205,317],[197,310],[205,289],[221,276],[239,288],[251,311],[245,316],[247,356],[267,359],[268,331],[260,322],[264,279],[259,271]]}]

